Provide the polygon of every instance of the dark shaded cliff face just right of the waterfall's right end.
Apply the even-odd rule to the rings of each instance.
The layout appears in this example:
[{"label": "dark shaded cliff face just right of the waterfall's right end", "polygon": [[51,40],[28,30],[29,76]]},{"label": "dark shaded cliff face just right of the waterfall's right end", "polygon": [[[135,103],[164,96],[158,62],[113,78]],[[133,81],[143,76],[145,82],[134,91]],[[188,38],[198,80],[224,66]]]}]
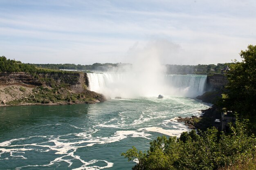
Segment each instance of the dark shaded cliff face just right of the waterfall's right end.
[{"label": "dark shaded cliff face just right of the waterfall's right end", "polygon": [[214,74],[207,76],[207,90],[220,90],[228,83],[227,77],[222,74]]}]

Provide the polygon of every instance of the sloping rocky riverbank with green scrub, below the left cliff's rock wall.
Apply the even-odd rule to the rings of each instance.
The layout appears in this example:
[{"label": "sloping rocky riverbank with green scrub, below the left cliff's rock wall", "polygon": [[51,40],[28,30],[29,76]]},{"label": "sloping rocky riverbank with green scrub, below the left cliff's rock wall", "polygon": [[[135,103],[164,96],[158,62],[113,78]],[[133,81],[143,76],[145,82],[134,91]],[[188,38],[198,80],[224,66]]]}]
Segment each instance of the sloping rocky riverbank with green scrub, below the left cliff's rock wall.
[{"label": "sloping rocky riverbank with green scrub, below the left cliff's rock wall", "polygon": [[78,92],[61,86],[0,85],[0,106],[94,104],[105,100],[102,94],[87,89]]}]

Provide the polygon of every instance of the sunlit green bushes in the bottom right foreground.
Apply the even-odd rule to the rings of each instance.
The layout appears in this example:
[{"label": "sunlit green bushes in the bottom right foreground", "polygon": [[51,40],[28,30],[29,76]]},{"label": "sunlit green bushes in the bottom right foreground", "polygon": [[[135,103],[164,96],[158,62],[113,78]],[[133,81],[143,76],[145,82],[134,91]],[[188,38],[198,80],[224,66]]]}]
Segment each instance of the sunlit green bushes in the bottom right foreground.
[{"label": "sunlit green bushes in the bottom right foreground", "polygon": [[121,155],[139,160],[133,170],[217,170],[254,158],[256,139],[247,134],[246,125],[247,120],[237,120],[229,135],[211,128],[201,136],[192,130],[179,139],[157,137],[147,152],[132,147]]}]

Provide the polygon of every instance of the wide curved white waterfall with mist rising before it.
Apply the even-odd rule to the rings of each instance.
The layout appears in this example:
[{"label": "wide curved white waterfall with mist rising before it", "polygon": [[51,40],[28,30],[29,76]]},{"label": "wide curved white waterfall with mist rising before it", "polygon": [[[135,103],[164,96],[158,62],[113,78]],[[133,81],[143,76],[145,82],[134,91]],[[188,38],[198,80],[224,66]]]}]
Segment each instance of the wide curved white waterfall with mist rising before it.
[{"label": "wide curved white waterfall with mist rising before it", "polygon": [[109,97],[142,97],[171,95],[195,97],[202,95],[206,85],[206,75],[161,74],[150,78],[144,75],[102,72],[87,73],[89,89]]}]

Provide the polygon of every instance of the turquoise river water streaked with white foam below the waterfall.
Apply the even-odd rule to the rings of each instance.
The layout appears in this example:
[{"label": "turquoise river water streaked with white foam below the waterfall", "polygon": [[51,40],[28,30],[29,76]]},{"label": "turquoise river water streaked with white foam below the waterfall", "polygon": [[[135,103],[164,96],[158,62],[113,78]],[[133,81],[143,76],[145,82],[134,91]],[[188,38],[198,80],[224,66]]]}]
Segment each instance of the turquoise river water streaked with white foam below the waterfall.
[{"label": "turquoise river water streaked with white foam below the waterfall", "polygon": [[104,103],[0,108],[0,169],[131,170],[121,157],[147,150],[159,135],[188,130],[173,118],[209,105],[187,97],[111,99]]}]

